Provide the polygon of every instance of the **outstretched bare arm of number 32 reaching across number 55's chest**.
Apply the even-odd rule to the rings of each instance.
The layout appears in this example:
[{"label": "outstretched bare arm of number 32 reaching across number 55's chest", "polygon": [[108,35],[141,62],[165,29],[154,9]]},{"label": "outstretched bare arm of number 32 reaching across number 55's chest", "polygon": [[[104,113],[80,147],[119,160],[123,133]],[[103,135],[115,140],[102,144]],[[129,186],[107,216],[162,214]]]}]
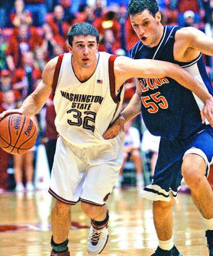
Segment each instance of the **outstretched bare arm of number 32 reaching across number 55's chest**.
[{"label": "outstretched bare arm of number 32 reaching across number 55's chest", "polygon": [[115,62],[115,74],[117,90],[119,90],[122,83],[132,77],[170,77],[191,90],[204,103],[211,98],[209,92],[191,74],[174,63],[160,60],[133,60],[127,57],[118,57]]}]

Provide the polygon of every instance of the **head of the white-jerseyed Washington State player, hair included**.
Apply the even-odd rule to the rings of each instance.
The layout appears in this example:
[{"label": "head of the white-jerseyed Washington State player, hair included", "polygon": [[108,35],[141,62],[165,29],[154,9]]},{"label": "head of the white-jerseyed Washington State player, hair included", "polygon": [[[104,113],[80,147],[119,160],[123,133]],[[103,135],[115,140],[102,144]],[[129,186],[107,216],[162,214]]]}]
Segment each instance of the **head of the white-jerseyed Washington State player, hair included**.
[{"label": "head of the white-jerseyed Washington State player, hair included", "polygon": [[72,53],[72,63],[83,68],[96,66],[99,33],[89,23],[77,23],[68,32],[68,49]]}]

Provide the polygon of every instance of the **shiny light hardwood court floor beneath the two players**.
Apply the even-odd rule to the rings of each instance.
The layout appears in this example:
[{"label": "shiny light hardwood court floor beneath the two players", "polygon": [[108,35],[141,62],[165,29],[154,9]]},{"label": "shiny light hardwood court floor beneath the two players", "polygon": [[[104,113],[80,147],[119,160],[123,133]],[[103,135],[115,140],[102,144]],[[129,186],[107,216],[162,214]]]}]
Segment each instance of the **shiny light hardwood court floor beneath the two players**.
[{"label": "shiny light hardwood court floor beneath the two players", "polygon": [[[50,256],[50,209],[47,191],[0,195],[0,255]],[[108,199],[110,237],[101,255],[150,256],[157,247],[152,221],[152,202],[136,189],[113,190]],[[205,226],[191,196],[179,194],[175,204],[175,244],[184,256],[208,256]],[[89,219],[80,205],[72,207],[69,233],[71,255],[89,255],[86,250]]]}]

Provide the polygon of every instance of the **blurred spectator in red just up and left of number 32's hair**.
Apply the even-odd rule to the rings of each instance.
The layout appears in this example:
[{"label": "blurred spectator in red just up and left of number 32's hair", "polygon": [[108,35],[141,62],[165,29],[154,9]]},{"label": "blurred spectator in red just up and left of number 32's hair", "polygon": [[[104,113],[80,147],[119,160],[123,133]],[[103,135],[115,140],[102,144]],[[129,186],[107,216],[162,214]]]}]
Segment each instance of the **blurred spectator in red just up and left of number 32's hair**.
[{"label": "blurred spectator in red just up and left of number 32's hair", "polygon": [[61,5],[54,7],[53,15],[46,20],[53,30],[53,35],[60,35],[63,38],[67,38],[70,24],[64,19],[64,10]]}]

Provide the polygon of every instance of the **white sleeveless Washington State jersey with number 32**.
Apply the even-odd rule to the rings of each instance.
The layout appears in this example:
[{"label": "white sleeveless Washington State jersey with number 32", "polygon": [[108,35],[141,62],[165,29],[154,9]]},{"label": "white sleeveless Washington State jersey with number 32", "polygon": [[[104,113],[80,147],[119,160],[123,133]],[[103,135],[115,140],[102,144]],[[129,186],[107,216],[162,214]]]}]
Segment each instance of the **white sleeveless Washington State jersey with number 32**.
[{"label": "white sleeveless Washington State jersey with number 32", "polygon": [[63,56],[55,89],[56,129],[66,141],[78,147],[111,143],[102,135],[118,117],[124,97],[123,87],[116,96],[114,56],[99,52],[96,70],[84,83],[73,71],[71,56],[70,53]]}]

